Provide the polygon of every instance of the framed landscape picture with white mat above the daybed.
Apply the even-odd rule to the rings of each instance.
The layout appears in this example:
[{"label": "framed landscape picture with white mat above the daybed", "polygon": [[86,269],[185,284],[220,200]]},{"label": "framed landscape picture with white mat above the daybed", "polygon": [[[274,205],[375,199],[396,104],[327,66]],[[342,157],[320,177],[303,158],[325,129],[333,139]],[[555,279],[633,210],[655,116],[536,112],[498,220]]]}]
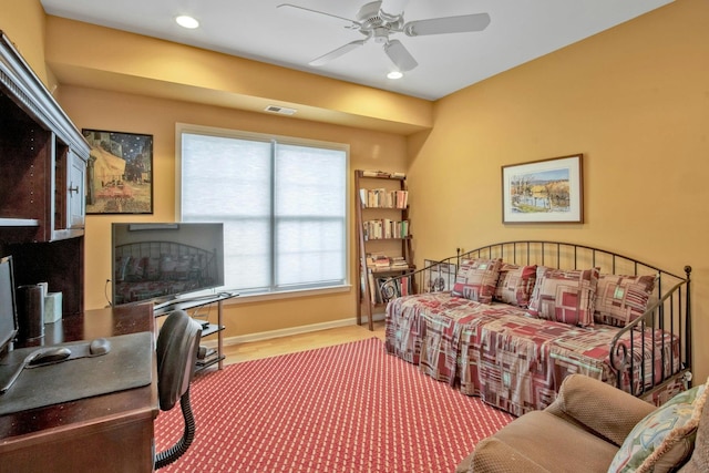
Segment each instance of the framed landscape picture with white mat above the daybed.
[{"label": "framed landscape picture with white mat above the daybed", "polygon": [[583,223],[583,154],[502,166],[504,224]]}]

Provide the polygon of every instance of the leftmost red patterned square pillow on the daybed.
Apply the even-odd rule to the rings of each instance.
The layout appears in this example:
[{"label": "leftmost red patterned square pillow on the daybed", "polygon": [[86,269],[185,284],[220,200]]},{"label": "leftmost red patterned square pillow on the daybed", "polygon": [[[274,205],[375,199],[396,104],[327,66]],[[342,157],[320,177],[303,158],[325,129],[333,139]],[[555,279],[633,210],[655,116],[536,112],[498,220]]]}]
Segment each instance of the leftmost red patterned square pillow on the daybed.
[{"label": "leftmost red patterned square pillow on the daybed", "polygon": [[502,259],[471,259],[461,263],[455,276],[453,296],[464,297],[482,304],[492,302],[497,287]]}]

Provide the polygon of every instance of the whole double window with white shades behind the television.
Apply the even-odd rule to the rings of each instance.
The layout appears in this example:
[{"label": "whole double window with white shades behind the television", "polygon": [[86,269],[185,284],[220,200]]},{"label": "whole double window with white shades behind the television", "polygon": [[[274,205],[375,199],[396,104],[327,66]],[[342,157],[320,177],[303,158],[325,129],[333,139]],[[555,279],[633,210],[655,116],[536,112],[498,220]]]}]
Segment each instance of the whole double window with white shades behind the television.
[{"label": "whole double window with white shades behind the television", "polygon": [[224,223],[243,295],[347,282],[347,145],[179,125],[183,222]]}]

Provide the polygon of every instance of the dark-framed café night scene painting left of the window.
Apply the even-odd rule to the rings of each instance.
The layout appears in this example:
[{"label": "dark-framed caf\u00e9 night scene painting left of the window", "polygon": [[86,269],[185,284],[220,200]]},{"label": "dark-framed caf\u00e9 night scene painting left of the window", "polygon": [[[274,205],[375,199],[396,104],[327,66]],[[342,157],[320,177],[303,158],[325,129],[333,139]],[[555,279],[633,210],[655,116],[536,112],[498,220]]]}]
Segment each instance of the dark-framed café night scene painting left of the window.
[{"label": "dark-framed caf\u00e9 night scene painting left of the window", "polygon": [[91,146],[86,214],[152,214],[153,135],[81,132]]}]

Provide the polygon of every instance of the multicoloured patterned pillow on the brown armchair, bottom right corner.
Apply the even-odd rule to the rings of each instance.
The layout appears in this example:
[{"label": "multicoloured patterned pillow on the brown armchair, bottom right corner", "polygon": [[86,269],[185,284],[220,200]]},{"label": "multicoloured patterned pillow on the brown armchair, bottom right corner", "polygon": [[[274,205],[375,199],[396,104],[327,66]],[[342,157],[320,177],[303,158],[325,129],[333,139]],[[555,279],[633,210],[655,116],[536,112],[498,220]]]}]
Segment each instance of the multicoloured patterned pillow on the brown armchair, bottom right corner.
[{"label": "multicoloured patterned pillow on the brown armchair, bottom right corner", "polygon": [[680,392],[633,428],[608,473],[665,473],[680,466],[695,444],[707,383]]}]

